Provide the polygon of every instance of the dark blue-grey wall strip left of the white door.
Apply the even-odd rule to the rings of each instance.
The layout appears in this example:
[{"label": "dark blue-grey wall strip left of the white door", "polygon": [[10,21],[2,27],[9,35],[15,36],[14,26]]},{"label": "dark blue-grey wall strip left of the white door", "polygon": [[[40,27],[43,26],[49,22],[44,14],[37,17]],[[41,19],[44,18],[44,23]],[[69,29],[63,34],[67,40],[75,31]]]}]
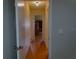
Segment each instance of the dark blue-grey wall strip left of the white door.
[{"label": "dark blue-grey wall strip left of the white door", "polygon": [[3,58],[16,59],[16,20],[14,0],[4,0],[3,3]]}]

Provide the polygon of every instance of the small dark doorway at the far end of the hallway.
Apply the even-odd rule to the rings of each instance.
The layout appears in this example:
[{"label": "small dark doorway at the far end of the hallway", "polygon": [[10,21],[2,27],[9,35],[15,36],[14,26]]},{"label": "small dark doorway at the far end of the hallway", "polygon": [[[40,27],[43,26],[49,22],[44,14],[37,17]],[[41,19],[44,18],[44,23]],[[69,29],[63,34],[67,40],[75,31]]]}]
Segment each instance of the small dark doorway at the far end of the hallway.
[{"label": "small dark doorway at the far end of the hallway", "polygon": [[39,41],[42,40],[42,34],[43,34],[43,20],[42,17],[39,15],[35,16],[35,40]]}]

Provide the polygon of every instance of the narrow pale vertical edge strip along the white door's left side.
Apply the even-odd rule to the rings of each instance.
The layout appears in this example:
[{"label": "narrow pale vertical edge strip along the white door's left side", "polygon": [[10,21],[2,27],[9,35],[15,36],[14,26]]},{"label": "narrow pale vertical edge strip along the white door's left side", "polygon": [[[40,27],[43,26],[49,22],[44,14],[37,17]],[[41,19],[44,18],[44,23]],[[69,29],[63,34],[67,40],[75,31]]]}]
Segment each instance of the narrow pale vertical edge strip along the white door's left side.
[{"label": "narrow pale vertical edge strip along the white door's left side", "polygon": [[[15,14],[16,14],[16,48],[19,47],[19,19],[18,19],[18,7],[17,7],[17,0],[15,0]],[[20,51],[17,50],[17,59],[20,59]]]}]

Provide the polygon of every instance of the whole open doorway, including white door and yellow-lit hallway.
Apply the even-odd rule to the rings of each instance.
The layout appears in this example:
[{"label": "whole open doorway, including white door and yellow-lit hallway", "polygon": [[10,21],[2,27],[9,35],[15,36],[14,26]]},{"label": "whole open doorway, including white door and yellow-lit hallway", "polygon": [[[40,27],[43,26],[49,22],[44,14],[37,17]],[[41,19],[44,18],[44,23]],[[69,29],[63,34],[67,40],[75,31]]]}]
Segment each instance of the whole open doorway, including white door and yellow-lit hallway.
[{"label": "whole open doorway, including white door and yellow-lit hallway", "polygon": [[17,1],[18,59],[48,59],[49,1]]}]

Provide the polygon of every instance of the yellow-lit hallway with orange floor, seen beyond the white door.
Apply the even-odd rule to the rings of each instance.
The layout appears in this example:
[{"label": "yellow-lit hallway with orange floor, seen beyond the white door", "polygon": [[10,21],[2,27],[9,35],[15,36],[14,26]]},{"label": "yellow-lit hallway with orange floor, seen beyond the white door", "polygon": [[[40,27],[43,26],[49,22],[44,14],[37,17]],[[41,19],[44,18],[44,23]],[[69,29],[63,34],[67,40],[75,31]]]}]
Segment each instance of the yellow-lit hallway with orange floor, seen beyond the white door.
[{"label": "yellow-lit hallway with orange floor, seen beyond the white door", "polygon": [[[37,4],[39,2],[35,3]],[[31,33],[33,37],[31,39],[29,50],[26,54],[26,59],[48,59],[48,47],[46,46],[47,36],[44,35],[44,33],[47,34],[47,4],[46,2],[41,2],[40,6],[33,6],[32,3],[29,5],[32,24]]]}]

